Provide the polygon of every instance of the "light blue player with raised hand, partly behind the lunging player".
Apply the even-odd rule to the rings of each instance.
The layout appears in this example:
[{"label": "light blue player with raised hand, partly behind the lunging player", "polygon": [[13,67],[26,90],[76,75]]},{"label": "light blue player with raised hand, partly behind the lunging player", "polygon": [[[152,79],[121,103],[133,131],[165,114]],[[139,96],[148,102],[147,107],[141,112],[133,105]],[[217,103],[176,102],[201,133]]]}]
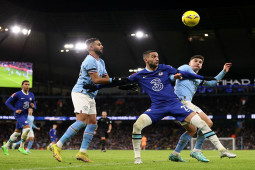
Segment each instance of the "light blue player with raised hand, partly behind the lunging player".
[{"label": "light blue player with raised hand, partly behind the lunging player", "polygon": [[[188,71],[190,73],[197,74],[199,70],[202,68],[203,63],[204,63],[203,56],[194,55],[191,57],[188,65],[187,64],[182,65],[178,68],[178,70]],[[215,79],[221,80],[229,71],[231,66],[232,66],[232,63],[226,63],[223,67],[223,70],[215,77]],[[170,79],[172,81],[175,81],[173,75],[170,76]],[[199,107],[194,105],[191,101],[199,85],[215,86],[217,84],[216,80],[202,81],[198,79],[195,79],[195,80],[178,79],[176,80],[176,84],[175,84],[175,94],[179,97],[182,104],[185,105],[187,108],[192,109],[194,112],[196,112],[200,116],[200,118],[207,123],[207,125],[210,128],[213,125],[213,122],[211,121],[211,119]],[[192,136],[194,136],[197,132],[197,128],[191,124],[185,123],[183,124],[183,127],[187,131],[181,135],[180,140],[174,152],[169,156],[169,160],[171,161],[186,162],[185,160],[181,158],[180,153],[184,149],[184,147],[187,145],[187,143],[189,143]],[[205,136],[202,133],[201,129],[199,129],[197,132],[197,141],[196,141],[194,149],[190,153],[190,156],[202,162],[209,162],[209,160],[201,152],[204,141],[205,141]]]}]

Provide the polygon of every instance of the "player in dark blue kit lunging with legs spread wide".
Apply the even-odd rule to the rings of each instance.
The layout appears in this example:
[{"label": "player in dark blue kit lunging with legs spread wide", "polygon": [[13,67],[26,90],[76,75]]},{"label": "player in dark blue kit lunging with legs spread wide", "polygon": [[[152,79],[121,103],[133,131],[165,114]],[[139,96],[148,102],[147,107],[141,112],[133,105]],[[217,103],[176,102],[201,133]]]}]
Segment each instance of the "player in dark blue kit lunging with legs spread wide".
[{"label": "player in dark blue kit lunging with legs spread wide", "polygon": [[236,157],[235,154],[230,153],[221,144],[216,134],[198,114],[180,102],[174,93],[169,76],[175,75],[175,77],[178,77],[178,73],[180,73],[184,79],[215,80],[215,78],[204,77],[186,71],[176,70],[169,65],[159,64],[158,53],[154,50],[145,51],[143,53],[143,60],[146,64],[145,69],[128,77],[131,82],[140,84],[143,91],[150,96],[152,102],[151,107],[140,115],[133,125],[132,144],[135,154],[134,163],[142,163],[142,130],[152,123],[160,121],[165,116],[173,116],[180,122],[187,122],[201,129],[204,136],[219,150],[221,157]]}]

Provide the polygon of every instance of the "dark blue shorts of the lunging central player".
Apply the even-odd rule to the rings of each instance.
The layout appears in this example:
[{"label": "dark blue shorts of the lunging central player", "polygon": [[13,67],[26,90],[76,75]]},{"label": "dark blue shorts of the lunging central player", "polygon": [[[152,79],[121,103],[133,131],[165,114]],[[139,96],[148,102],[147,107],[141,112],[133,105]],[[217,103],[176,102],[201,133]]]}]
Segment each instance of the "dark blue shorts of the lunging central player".
[{"label": "dark blue shorts of the lunging central player", "polygon": [[147,114],[152,123],[156,123],[166,116],[173,116],[178,121],[182,122],[193,110],[188,109],[179,100],[165,102],[161,104],[152,104],[144,114]]}]

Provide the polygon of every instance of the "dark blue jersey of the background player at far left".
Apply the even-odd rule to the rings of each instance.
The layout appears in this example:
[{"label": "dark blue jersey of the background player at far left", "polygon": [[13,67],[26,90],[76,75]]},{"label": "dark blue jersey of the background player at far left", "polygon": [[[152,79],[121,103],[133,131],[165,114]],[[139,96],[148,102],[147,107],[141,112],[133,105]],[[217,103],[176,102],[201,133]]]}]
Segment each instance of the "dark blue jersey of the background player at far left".
[{"label": "dark blue jersey of the background player at far left", "polygon": [[[5,102],[7,107],[14,112],[14,116],[27,115],[31,103],[34,103],[36,108],[34,94],[32,92],[25,94],[22,90],[12,94]],[[17,114],[16,110],[22,110],[22,112]]]}]

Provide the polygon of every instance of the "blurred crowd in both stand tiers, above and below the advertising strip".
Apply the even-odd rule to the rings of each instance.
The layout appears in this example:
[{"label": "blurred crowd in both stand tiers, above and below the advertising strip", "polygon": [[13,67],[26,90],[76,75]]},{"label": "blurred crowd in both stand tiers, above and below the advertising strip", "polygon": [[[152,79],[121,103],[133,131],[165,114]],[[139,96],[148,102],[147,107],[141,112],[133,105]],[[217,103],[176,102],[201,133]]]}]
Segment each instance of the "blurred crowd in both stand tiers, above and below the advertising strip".
[{"label": "blurred crowd in both stand tiers, above and below the advertising strip", "polygon": [[[7,98],[1,98],[0,115],[13,115],[5,105]],[[97,112],[103,110],[108,116],[139,116],[150,107],[147,96],[98,96],[96,98]],[[196,96],[193,103],[199,106],[208,115],[225,114],[254,114],[255,96]],[[36,98],[37,109],[34,116],[74,116],[72,100],[69,97],[39,97]],[[255,149],[254,120],[213,120],[213,130],[218,137],[235,137],[237,148]],[[57,134],[61,137],[73,121],[55,122],[58,125]],[[132,149],[132,125],[134,121],[114,121],[112,132],[107,140],[108,149]],[[49,130],[53,122],[35,121],[40,131],[35,130],[34,149],[45,149],[50,143]],[[0,142],[8,140],[15,128],[15,121],[0,121],[0,128],[7,129],[0,134]],[[176,121],[161,121],[144,129],[143,134],[148,139],[147,149],[174,149],[184,128]],[[78,132],[72,140],[64,145],[64,149],[79,149],[83,130]],[[89,149],[99,149],[100,138],[96,134]],[[187,145],[187,149],[190,145]]]}]

